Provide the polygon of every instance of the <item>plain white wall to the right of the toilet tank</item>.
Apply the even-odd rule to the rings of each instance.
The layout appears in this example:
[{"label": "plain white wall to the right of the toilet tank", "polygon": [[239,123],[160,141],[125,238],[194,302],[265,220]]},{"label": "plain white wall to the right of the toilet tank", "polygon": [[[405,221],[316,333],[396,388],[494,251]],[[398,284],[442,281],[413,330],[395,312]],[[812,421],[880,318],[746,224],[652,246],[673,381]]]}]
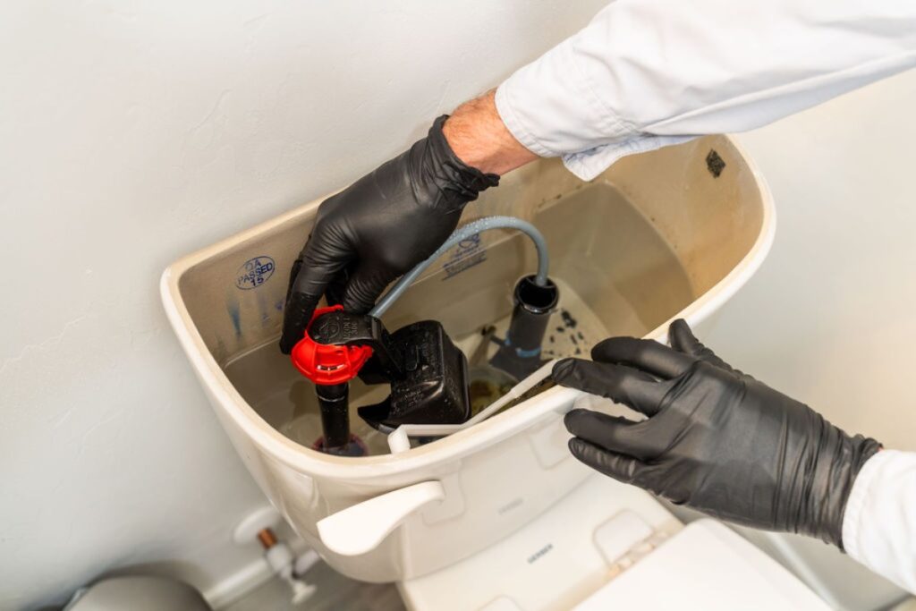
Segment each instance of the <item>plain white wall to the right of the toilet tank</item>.
[{"label": "plain white wall to the right of the toilet tank", "polygon": [[[740,137],[769,181],[779,226],[769,259],[703,337],[845,431],[911,451],[914,103],[910,71]],[[783,541],[838,608],[902,595],[818,541]]]}]

